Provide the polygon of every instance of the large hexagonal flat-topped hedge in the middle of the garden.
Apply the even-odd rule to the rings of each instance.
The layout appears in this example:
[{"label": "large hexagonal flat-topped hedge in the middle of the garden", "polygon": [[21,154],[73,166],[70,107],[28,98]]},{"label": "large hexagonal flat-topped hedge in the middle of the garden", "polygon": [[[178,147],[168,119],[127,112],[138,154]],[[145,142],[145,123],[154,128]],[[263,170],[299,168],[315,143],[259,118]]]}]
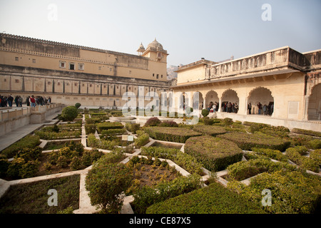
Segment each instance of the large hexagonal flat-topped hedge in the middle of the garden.
[{"label": "large hexagonal flat-topped hedge in the middle of the garden", "polygon": [[228,165],[239,162],[243,156],[234,142],[211,136],[189,138],[184,150],[210,171],[224,170]]}]

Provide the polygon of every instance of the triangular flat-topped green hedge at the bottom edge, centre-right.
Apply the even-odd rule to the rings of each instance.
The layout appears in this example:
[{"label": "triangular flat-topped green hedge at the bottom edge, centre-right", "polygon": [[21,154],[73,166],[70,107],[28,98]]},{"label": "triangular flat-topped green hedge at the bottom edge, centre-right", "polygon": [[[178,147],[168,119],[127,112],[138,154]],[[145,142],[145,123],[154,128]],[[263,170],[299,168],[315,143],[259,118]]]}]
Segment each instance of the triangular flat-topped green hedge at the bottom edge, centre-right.
[{"label": "triangular flat-topped green hedge at the bottom edge, centre-right", "polygon": [[153,204],[147,214],[265,214],[257,204],[214,182],[164,202]]}]

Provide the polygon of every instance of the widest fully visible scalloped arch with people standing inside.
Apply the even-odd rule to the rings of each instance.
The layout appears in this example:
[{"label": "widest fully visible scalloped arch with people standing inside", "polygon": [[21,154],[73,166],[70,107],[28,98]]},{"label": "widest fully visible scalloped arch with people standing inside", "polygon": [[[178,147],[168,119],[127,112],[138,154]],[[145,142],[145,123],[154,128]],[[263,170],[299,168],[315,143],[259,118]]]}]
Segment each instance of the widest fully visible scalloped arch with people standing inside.
[{"label": "widest fully visible scalloped arch with people standing inside", "polygon": [[[272,115],[274,111],[274,98],[272,92],[268,88],[262,86],[250,91],[248,95],[248,104],[252,105],[251,113],[248,110],[248,114]],[[261,109],[258,108],[258,104],[261,105]],[[264,108],[264,105],[266,105],[267,108]],[[266,110],[265,113],[264,110]]]}]

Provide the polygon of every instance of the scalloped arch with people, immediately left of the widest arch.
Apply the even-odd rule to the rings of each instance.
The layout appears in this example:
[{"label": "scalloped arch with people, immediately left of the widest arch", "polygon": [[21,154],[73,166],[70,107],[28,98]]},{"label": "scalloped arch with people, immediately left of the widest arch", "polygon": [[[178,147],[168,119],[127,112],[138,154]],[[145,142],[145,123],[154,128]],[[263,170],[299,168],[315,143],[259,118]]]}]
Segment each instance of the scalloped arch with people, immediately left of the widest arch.
[{"label": "scalloped arch with people, immediately left of the widest arch", "polygon": [[238,113],[238,106],[236,105],[239,104],[240,99],[238,98],[238,93],[236,93],[235,90],[228,89],[223,92],[220,103],[222,112]]}]

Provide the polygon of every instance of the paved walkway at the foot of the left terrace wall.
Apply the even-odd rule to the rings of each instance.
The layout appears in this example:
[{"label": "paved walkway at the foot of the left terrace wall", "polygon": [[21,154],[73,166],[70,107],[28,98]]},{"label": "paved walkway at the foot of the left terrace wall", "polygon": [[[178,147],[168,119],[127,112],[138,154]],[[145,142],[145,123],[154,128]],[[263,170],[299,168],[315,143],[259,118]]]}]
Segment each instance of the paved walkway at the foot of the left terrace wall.
[{"label": "paved walkway at the foot of the left terrace wall", "polygon": [[54,120],[59,113],[54,113],[53,115],[46,117],[46,123],[37,123],[37,124],[29,124],[22,128],[18,128],[16,130],[11,131],[6,135],[1,135],[0,137],[0,151],[4,150],[9,145],[13,144],[16,141],[19,141],[21,138],[24,138],[26,135],[29,135],[34,130],[41,128],[44,125],[53,125],[58,122],[58,120]]}]

